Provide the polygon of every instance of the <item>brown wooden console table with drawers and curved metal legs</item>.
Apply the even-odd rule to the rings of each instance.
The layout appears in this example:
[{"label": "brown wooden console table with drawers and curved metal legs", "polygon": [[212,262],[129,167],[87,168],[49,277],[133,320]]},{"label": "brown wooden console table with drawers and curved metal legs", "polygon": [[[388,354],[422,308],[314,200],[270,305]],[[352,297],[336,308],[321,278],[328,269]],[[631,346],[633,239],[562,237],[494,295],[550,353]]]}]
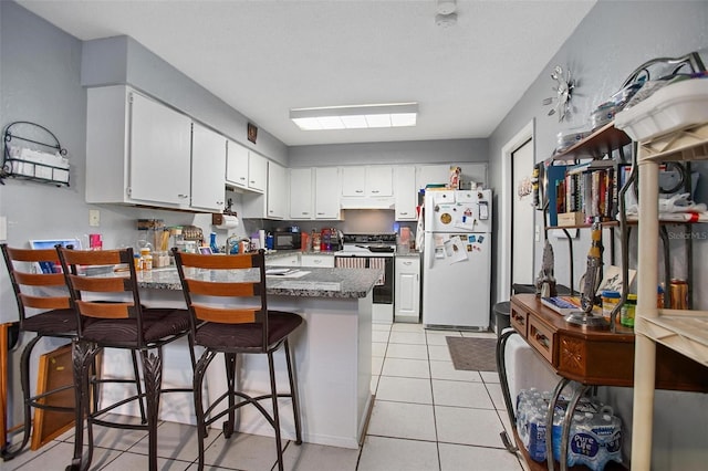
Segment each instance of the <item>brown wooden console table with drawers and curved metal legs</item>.
[{"label": "brown wooden console table with drawers and curved metal legs", "polygon": [[[568,449],[570,421],[580,397],[592,386],[634,386],[634,331],[617,326],[589,328],[565,322],[562,315],[541,304],[534,294],[517,294],[511,297],[510,324],[514,331],[507,331],[497,345],[497,363],[502,383],[502,391],[509,420],[514,426],[512,399],[506,375],[504,347],[512,334],[521,335],[533,350],[545,360],[563,379],[553,391],[546,417],[546,430],[552,429],[553,408],[563,390],[571,381],[576,384],[569,402],[563,422],[561,450]],[[708,367],[685,357],[669,348],[657,345],[656,388],[683,391],[708,393]],[[532,470],[553,470],[555,463],[538,463],[523,449],[528,465]],[[546,440],[546,456],[552,456],[551,440]],[[561,470],[568,469],[565,453],[561,453]]]}]

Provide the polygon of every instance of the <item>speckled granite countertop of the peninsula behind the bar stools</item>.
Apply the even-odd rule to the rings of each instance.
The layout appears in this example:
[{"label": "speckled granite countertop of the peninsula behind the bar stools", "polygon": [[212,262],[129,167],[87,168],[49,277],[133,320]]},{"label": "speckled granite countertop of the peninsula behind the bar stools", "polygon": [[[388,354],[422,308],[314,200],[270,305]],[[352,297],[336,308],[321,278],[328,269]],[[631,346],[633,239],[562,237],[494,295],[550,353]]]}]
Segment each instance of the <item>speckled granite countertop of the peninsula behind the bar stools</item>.
[{"label": "speckled granite countertop of the peninsula behind the bar stools", "polygon": [[[383,270],[293,268],[282,275],[269,275],[267,293],[306,297],[365,297]],[[207,270],[198,276],[210,276]],[[153,290],[181,290],[176,268],[138,272],[138,286]]]}]

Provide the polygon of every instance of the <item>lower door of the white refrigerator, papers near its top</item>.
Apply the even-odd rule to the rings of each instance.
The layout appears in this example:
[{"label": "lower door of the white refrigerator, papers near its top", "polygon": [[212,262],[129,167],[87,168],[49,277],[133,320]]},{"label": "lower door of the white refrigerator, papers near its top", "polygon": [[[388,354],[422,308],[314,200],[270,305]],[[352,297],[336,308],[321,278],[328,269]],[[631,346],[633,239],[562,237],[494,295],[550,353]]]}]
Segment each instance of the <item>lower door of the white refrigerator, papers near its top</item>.
[{"label": "lower door of the white refrigerator, papers near its top", "polygon": [[423,324],[486,331],[490,318],[488,233],[426,233]]}]

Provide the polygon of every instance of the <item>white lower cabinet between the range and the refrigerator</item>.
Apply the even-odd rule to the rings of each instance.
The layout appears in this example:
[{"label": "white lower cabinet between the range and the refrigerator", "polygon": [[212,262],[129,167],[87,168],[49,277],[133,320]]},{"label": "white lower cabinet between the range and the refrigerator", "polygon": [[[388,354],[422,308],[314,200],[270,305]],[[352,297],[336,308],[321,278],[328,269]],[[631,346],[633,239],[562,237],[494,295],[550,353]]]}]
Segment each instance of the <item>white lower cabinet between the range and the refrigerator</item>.
[{"label": "white lower cabinet between the range and the refrigerator", "polygon": [[420,322],[420,258],[396,255],[394,322]]}]

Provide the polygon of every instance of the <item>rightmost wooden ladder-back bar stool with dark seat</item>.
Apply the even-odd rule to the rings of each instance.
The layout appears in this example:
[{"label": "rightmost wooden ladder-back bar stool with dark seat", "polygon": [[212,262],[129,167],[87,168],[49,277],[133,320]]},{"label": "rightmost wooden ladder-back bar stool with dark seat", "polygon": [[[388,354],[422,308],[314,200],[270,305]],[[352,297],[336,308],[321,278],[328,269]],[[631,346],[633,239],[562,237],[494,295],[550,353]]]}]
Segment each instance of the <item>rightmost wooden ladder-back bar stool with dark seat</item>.
[{"label": "rightmost wooden ladder-back bar stool with dark seat", "polygon": [[[298,387],[293,379],[294,363],[289,336],[301,324],[302,317],[289,312],[269,311],[266,295],[266,255],[202,255],[174,250],[187,307],[192,315],[192,335],[196,346],[204,347],[197,362],[194,379],[195,411],[199,438],[199,469],[204,469],[204,440],[207,427],[223,416],[223,436],[228,439],[235,429],[235,412],[242,406],[253,405],[273,427],[278,451],[278,468],[283,469],[280,415],[278,398],[291,398],[295,426],[295,443],[302,443]],[[218,301],[214,301],[218,300]],[[273,353],[284,347],[290,393],[278,393]],[[211,401],[205,410],[201,390],[207,368],[217,354],[223,354],[228,390]],[[237,355],[266,354],[270,375],[270,394],[251,396],[236,390]],[[211,395],[211,391],[210,391]],[[237,402],[236,397],[241,400]],[[270,399],[272,415],[260,404]],[[227,400],[226,409],[211,415]],[[210,416],[207,418],[207,416]]]}]

